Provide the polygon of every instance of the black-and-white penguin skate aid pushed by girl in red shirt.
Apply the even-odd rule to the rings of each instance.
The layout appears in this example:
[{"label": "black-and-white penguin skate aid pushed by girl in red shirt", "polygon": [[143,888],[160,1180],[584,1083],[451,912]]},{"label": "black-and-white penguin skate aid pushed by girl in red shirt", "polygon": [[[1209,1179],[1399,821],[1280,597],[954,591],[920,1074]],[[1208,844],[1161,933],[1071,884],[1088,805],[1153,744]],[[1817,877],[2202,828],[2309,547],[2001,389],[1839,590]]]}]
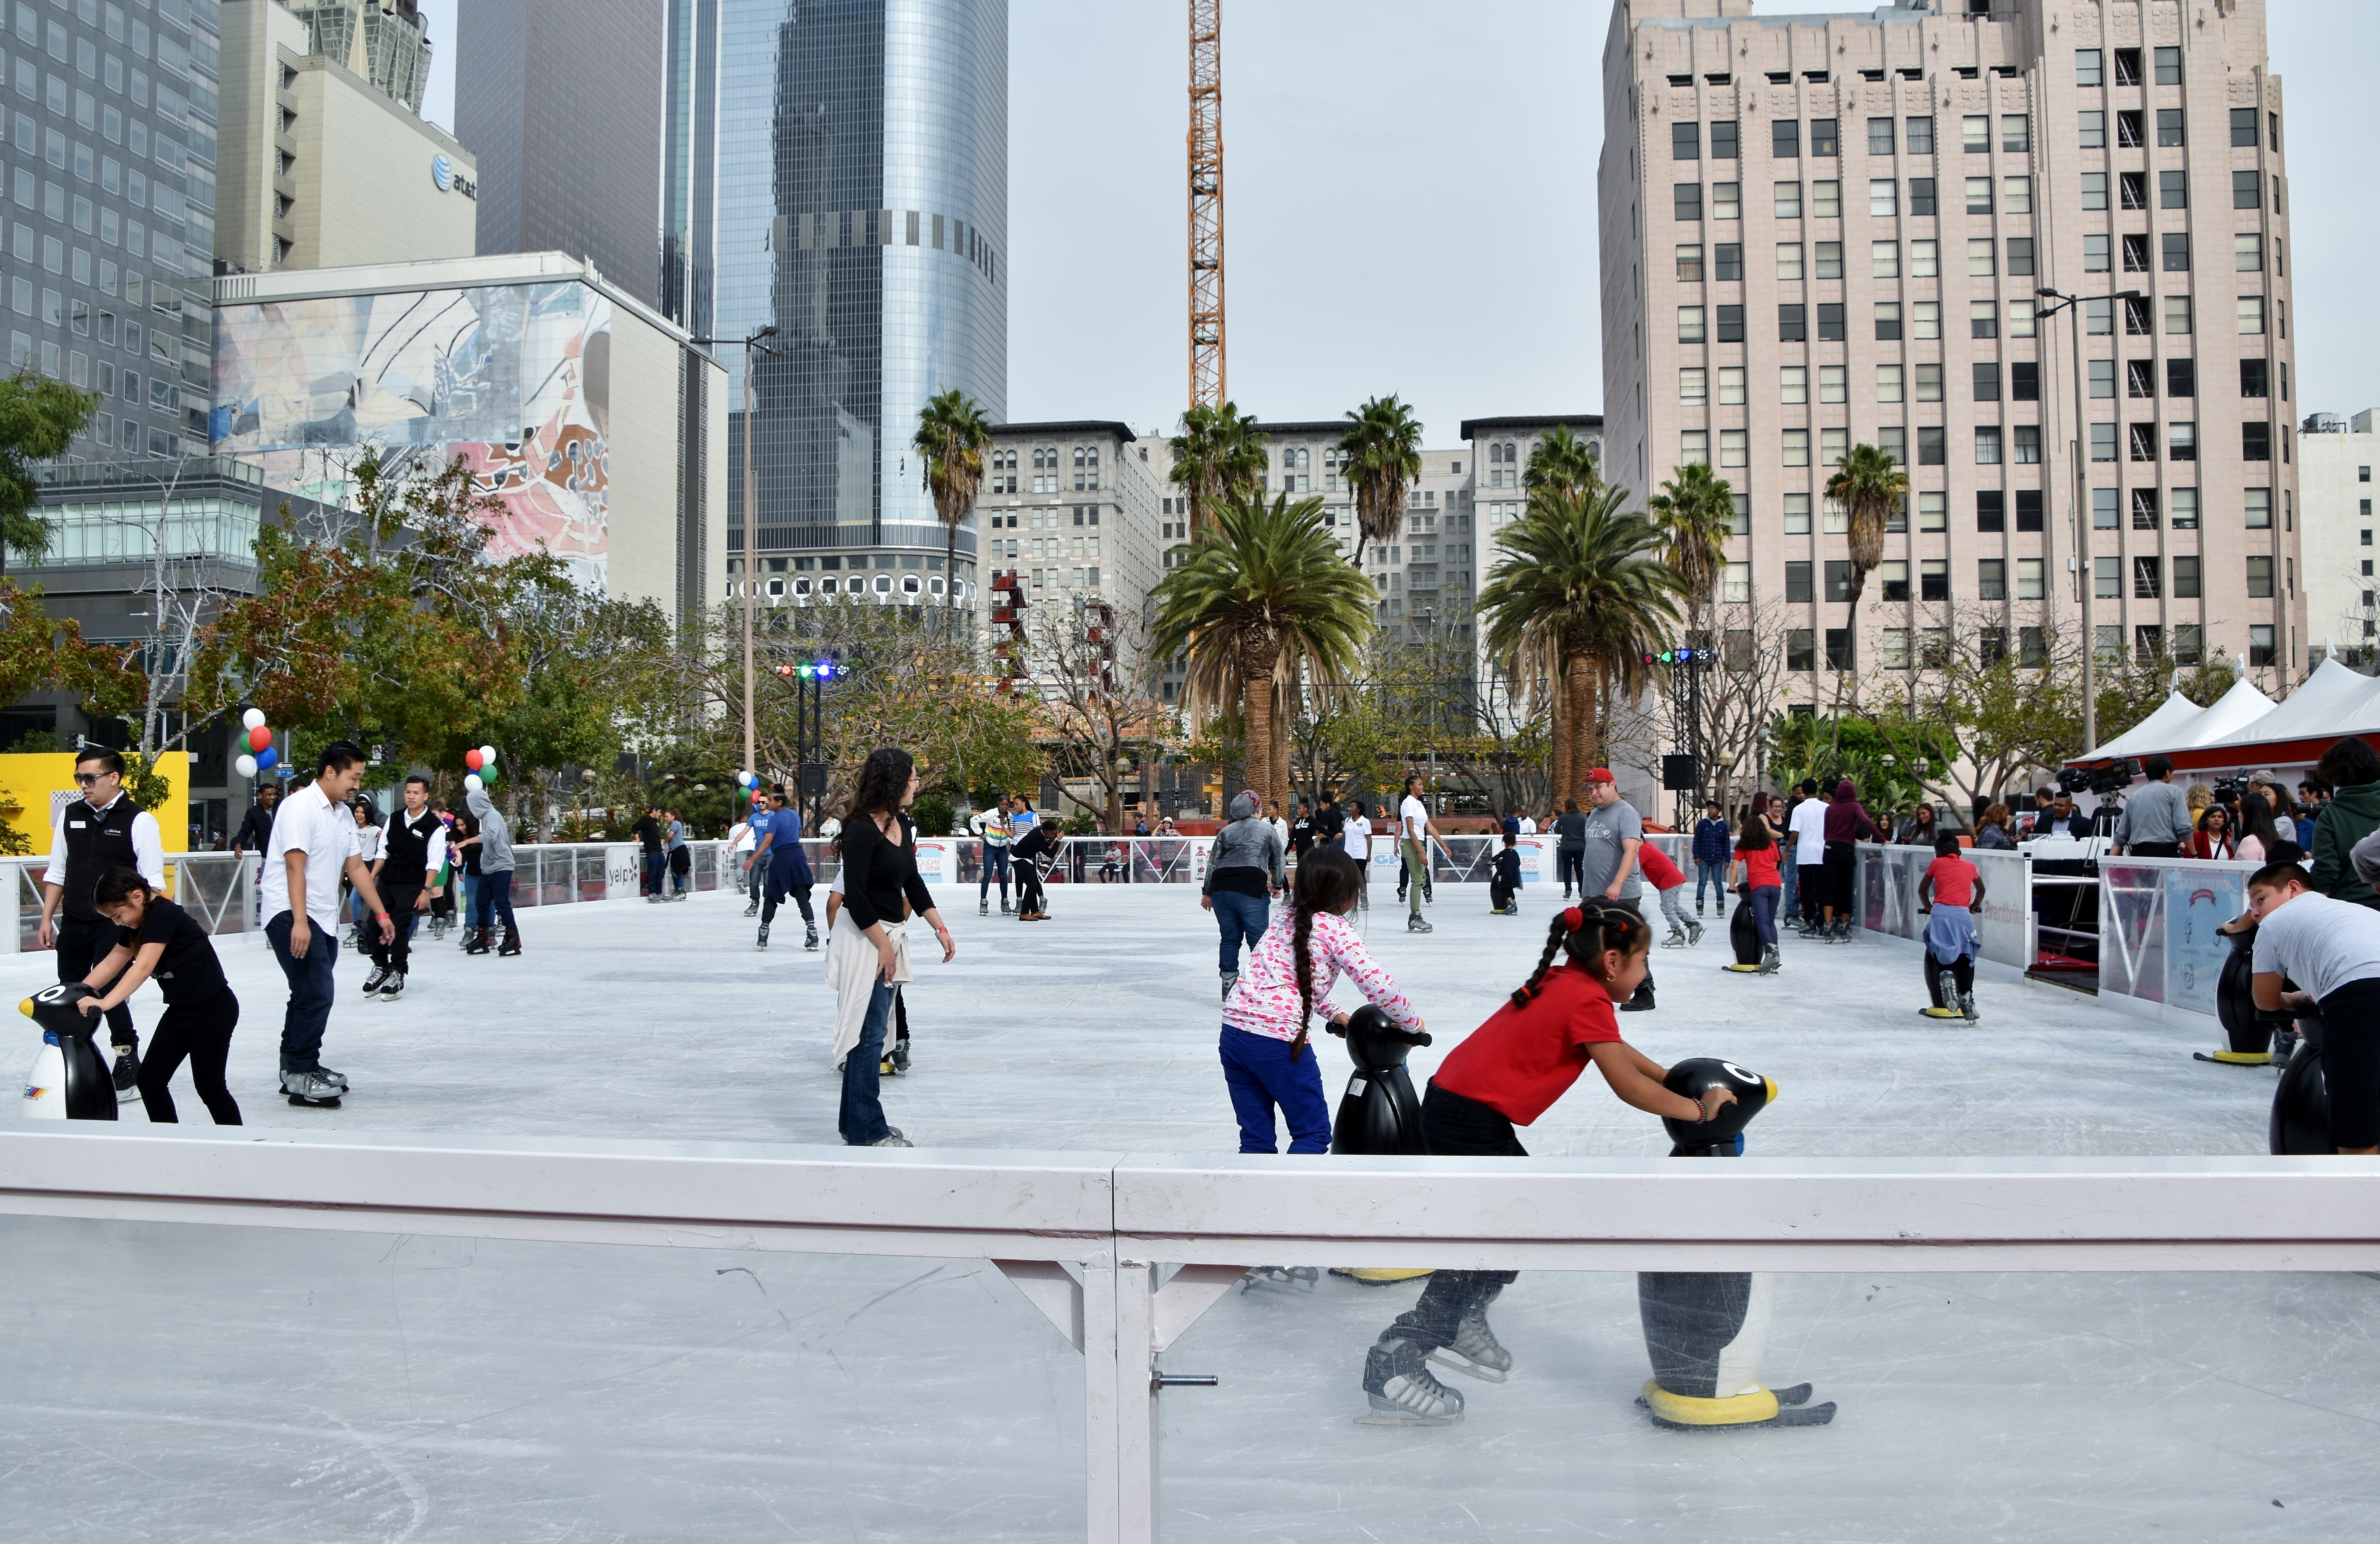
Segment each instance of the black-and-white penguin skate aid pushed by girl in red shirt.
[{"label": "black-and-white penguin skate aid pushed by girl in red shirt", "polygon": [[[1775,1082],[1733,1061],[1697,1056],[1668,1068],[1664,1087],[1702,1099],[1711,1087],[1735,1092],[1704,1123],[1668,1121],[1673,1159],[1733,1159],[1742,1151],[1745,1125],[1775,1099]],[[1768,1344],[1771,1278],[1749,1270],[1645,1270],[1637,1275],[1637,1313],[1652,1377],[1642,1404],[1656,1425],[1825,1425],[1833,1404],[1809,1404],[1809,1385],[1771,1389],[1761,1385],[1761,1351]]]}]

